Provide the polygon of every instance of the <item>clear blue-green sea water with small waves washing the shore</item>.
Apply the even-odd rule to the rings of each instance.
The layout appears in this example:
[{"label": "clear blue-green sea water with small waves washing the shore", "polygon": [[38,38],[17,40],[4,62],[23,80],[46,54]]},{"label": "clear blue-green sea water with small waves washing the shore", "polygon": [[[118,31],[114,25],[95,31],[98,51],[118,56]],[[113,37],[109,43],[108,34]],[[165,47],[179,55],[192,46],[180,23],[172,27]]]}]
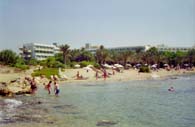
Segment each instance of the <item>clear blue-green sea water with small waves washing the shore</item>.
[{"label": "clear blue-green sea water with small waves washing the shore", "polygon": [[[173,86],[174,92],[168,88]],[[0,126],[194,127],[195,76],[65,84],[60,96],[0,98]],[[99,124],[104,121],[109,123]],[[111,124],[110,124],[111,123]]]}]

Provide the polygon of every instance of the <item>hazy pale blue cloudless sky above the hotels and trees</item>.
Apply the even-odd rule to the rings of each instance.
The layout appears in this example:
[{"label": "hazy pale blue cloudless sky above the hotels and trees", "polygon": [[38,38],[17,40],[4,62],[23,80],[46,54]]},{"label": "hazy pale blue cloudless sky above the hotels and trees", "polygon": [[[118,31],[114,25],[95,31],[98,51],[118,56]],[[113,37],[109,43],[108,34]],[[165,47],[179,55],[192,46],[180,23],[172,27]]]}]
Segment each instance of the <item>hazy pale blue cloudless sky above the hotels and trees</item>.
[{"label": "hazy pale blue cloudless sky above the hotels and trees", "polygon": [[195,44],[195,0],[0,0],[0,50],[24,43]]}]

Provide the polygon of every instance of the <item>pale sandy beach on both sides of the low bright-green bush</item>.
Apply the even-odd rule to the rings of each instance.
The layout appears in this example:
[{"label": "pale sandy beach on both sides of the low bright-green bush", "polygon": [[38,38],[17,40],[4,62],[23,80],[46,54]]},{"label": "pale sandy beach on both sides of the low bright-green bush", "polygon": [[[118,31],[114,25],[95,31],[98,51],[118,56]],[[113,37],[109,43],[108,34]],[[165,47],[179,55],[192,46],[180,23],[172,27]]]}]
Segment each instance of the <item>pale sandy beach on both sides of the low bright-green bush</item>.
[{"label": "pale sandy beach on both sides of the low bright-green bush", "polygon": [[[31,76],[34,68],[30,70],[17,72],[14,71],[14,68],[11,67],[2,67],[0,71],[0,82],[10,82],[15,79],[22,79],[26,76]],[[84,77],[84,79],[77,79],[76,74],[79,72],[80,75]],[[167,71],[165,69],[159,69],[158,71],[151,71],[150,73],[138,73],[136,69],[123,70],[122,72],[114,72],[111,69],[107,69],[107,73],[109,73],[109,77],[104,80],[103,73],[99,72],[99,78],[96,79],[96,72],[93,70],[86,71],[83,68],[79,69],[65,69],[62,71],[62,76],[65,76],[67,79],[60,80],[60,84],[64,83],[83,83],[83,82],[102,82],[102,81],[128,81],[128,80],[147,80],[147,79],[162,79],[167,76],[175,76],[175,75],[184,75],[184,74],[195,74],[195,69],[191,71],[187,71],[185,69],[180,70],[170,70]],[[47,81],[47,80],[45,80]]]}]

